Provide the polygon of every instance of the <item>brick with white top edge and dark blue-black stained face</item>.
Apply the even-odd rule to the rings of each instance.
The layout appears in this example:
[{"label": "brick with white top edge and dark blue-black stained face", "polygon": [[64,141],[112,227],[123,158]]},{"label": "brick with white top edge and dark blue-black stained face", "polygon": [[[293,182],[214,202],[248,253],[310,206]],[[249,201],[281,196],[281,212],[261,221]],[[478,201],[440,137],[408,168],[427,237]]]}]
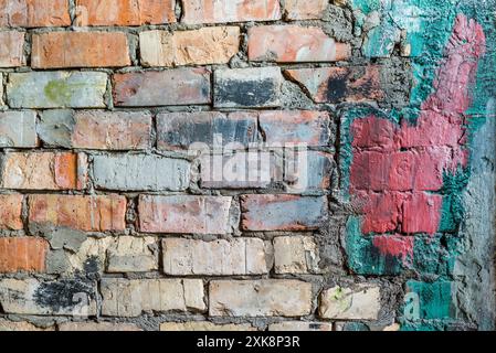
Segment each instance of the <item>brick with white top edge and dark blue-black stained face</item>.
[{"label": "brick with white top edge and dark blue-black stained face", "polygon": [[283,76],[278,67],[217,69],[214,106],[278,107]]}]

